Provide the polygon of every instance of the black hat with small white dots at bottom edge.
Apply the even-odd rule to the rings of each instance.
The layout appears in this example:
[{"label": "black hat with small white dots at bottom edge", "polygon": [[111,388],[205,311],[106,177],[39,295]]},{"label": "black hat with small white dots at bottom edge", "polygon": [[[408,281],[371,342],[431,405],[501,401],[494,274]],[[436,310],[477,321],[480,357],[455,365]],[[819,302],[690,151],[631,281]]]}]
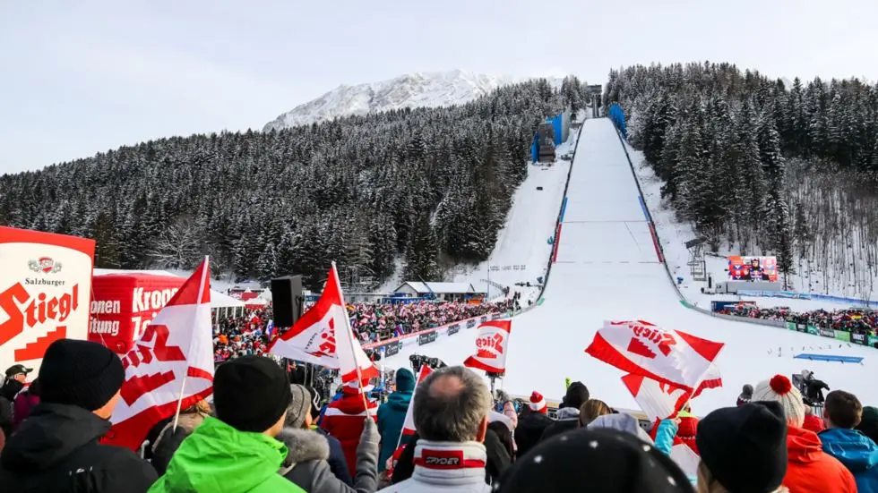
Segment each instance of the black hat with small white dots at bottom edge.
[{"label": "black hat with small white dots at bottom edge", "polygon": [[670,457],[616,429],[578,429],[541,442],[520,457],[499,483],[495,491],[500,493],[693,492]]}]

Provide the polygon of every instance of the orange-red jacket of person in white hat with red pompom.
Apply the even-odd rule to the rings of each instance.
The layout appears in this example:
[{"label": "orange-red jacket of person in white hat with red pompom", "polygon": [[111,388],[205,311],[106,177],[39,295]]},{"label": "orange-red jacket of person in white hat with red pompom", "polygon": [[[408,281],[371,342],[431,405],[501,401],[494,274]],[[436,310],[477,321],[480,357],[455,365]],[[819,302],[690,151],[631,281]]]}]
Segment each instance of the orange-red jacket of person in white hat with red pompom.
[{"label": "orange-red jacket of person in white hat with red pompom", "polygon": [[787,427],[787,476],[789,493],[856,493],[854,476],[842,463],[823,452],[817,434]]}]

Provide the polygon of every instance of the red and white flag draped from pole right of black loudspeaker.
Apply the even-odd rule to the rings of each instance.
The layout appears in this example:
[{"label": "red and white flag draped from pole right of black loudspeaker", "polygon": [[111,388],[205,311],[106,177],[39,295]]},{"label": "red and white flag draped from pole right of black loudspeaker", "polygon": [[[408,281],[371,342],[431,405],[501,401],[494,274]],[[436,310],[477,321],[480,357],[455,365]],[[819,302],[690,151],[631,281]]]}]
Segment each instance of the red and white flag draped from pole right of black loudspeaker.
[{"label": "red and white flag draped from pole right of black loudspeaker", "polygon": [[340,370],[343,382],[379,375],[350,328],[335,263],[320,299],[271,344],[269,353]]}]

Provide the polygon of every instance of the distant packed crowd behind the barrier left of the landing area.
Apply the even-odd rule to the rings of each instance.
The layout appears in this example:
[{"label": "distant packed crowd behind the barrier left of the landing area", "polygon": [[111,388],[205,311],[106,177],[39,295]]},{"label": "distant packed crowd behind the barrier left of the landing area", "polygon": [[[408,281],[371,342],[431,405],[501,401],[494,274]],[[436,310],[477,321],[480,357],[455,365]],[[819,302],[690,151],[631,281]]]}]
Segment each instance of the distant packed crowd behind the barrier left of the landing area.
[{"label": "distant packed crowd behind the barrier left of the landing area", "polygon": [[[503,302],[431,302],[356,303],[348,305],[350,324],[359,340],[374,343],[419,330],[439,327],[486,313],[503,313],[514,309],[514,298]],[[239,317],[220,319],[213,327],[214,361],[227,361],[235,356],[265,354],[280,330],[271,323],[271,306],[246,310]]]}]

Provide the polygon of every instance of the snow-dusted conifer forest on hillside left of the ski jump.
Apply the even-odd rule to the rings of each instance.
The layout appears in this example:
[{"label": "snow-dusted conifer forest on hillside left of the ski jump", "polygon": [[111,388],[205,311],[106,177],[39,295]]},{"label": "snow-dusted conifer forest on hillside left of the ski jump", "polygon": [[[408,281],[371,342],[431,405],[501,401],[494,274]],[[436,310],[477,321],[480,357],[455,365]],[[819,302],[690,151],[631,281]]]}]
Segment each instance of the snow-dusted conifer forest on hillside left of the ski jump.
[{"label": "snow-dusted conifer forest on hillside left of the ski jump", "polygon": [[406,109],[280,132],[151,140],[0,177],[0,224],[98,241],[108,268],[193,268],[319,285],[486,259],[527,174],[533,132],[578,100],[545,80],[464,106]]}]

